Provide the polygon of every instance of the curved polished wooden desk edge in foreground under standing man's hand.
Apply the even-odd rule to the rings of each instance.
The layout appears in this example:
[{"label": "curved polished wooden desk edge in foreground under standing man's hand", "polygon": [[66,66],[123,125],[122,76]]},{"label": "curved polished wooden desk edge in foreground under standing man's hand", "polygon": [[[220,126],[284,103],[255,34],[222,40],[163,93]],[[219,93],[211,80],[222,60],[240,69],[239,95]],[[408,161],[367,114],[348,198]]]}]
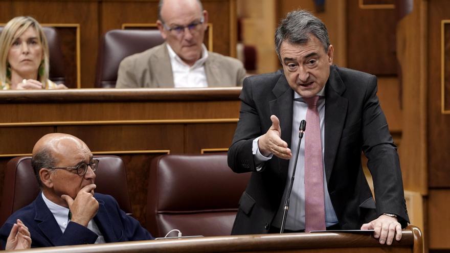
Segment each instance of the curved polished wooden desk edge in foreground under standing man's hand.
[{"label": "curved polished wooden desk edge in foreground under standing man's hand", "polygon": [[380,245],[371,234],[299,233],[220,236],[190,239],[121,242],[97,245],[30,249],[25,252],[422,252],[422,234],[417,227],[404,229],[399,242]]}]

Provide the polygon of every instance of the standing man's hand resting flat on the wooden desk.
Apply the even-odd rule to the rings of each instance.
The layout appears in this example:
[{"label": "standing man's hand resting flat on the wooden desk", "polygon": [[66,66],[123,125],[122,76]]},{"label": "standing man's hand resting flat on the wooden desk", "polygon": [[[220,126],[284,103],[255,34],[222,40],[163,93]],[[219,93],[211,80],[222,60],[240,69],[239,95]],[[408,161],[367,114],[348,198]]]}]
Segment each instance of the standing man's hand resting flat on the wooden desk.
[{"label": "standing man's hand resting flat on the wooden desk", "polygon": [[361,230],[366,229],[375,229],[373,237],[379,238],[380,244],[386,242],[387,245],[391,245],[394,235],[395,240],[400,241],[401,239],[401,225],[395,217],[380,215],[377,219],[361,226]]}]

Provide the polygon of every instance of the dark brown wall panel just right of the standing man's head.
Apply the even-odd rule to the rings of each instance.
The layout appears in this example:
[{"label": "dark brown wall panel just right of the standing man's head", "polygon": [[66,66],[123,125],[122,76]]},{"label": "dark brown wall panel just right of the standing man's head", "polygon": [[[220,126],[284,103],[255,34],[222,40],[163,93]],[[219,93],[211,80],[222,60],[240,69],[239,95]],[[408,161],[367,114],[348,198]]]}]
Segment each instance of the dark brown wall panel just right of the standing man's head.
[{"label": "dark brown wall panel just right of the standing man's head", "polygon": [[361,9],[347,1],[347,66],[373,75],[396,75],[395,10]]}]

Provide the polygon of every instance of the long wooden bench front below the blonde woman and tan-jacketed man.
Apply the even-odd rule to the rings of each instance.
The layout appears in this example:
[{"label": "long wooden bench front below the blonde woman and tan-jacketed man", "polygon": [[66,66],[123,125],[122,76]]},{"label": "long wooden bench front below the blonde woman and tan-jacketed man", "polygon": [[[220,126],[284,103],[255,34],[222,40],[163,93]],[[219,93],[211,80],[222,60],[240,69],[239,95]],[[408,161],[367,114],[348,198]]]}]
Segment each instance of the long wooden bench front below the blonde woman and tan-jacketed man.
[{"label": "long wooden bench front below the blonde woman and tan-jacketed man", "polygon": [[2,91],[0,185],[9,159],[30,155],[44,134],[70,133],[94,154],[124,159],[133,216],[145,224],[150,160],[166,153],[226,151],[239,118],[240,90]]}]

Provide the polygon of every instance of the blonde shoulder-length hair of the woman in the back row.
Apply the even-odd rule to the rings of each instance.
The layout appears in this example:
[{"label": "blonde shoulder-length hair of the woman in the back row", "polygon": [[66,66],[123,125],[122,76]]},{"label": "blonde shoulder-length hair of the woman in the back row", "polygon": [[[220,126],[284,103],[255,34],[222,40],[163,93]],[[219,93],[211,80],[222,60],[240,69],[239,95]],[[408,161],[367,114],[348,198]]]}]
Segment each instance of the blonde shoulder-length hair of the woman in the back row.
[{"label": "blonde shoulder-length hair of the woman in the back row", "polygon": [[[8,70],[9,49],[14,40],[22,35],[29,27],[33,27],[36,30],[37,38],[42,45],[42,53],[44,56],[43,61],[37,70],[37,79],[43,84],[47,83],[47,80],[49,79],[49,45],[39,22],[28,16],[19,16],[9,20],[8,24],[6,24],[3,29],[2,34],[0,34],[0,82],[11,82],[11,76],[7,75],[7,72],[11,73],[10,70]],[[14,37],[14,35],[16,36]]]}]

